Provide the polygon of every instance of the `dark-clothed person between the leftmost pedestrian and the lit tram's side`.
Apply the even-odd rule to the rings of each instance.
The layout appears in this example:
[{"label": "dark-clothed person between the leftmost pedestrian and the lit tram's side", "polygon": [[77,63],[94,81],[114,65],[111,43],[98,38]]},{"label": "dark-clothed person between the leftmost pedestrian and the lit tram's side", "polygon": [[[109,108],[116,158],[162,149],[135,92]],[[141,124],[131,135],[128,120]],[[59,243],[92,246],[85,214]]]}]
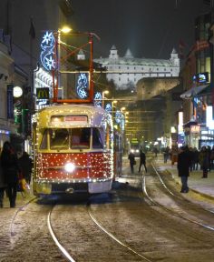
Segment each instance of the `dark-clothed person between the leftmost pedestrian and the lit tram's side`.
[{"label": "dark-clothed person between the leftmost pedestrian and the lit tram's side", "polygon": [[21,153],[21,156],[18,158],[18,164],[21,169],[21,174],[25,179],[28,185],[31,184],[31,173],[33,168],[33,161],[27,152]]}]

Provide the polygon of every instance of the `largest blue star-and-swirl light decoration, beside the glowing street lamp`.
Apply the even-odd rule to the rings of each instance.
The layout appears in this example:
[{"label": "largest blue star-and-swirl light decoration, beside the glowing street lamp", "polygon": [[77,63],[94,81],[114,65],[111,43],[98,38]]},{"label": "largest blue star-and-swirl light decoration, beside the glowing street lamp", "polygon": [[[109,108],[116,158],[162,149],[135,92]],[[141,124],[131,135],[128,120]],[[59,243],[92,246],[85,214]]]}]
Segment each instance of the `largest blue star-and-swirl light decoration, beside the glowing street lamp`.
[{"label": "largest blue star-and-swirl light decoration, beside the glowing street lamp", "polygon": [[40,61],[47,71],[55,69],[55,61],[53,59],[54,45],[55,39],[53,36],[53,32],[46,31],[40,45],[42,48],[40,53]]}]

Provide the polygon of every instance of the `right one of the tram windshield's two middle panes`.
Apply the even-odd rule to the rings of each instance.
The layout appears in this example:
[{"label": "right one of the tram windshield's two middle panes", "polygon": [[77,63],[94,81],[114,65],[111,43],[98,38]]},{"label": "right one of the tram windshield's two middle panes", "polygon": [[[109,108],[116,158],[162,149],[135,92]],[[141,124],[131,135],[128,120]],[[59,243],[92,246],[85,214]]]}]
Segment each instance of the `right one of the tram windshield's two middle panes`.
[{"label": "right one of the tram windshield's two middle panes", "polygon": [[71,137],[71,148],[89,148],[90,147],[91,128],[73,128]]}]

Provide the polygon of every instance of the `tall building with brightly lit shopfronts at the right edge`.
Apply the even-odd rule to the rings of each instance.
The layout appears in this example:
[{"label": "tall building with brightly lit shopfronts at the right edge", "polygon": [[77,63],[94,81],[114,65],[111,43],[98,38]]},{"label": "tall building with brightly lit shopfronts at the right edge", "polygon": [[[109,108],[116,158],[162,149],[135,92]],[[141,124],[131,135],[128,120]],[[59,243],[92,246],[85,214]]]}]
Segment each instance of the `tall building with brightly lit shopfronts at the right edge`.
[{"label": "tall building with brightly lit shopfronts at the right edge", "polygon": [[214,146],[211,17],[208,13],[196,18],[195,44],[180,71],[185,144],[197,148]]}]

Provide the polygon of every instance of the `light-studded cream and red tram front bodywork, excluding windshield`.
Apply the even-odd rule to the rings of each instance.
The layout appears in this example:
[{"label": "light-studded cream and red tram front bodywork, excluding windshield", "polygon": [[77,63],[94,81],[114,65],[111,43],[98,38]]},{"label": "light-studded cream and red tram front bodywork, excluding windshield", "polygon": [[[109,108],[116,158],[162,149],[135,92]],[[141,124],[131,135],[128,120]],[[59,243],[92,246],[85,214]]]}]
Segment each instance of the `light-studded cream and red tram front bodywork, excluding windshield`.
[{"label": "light-studded cream and red tram front bodywork, excluding windshield", "polygon": [[[73,125],[65,122],[52,122],[52,116],[87,116],[87,123]],[[112,116],[102,108],[93,106],[51,106],[45,107],[42,111],[36,113],[34,117],[36,126],[37,159],[36,176],[39,183],[86,183],[86,182],[105,182],[113,176],[113,134],[112,134]],[[78,127],[97,127],[105,130],[109,136],[109,148],[87,149],[83,150],[50,150],[49,146],[40,149],[45,128],[78,128]],[[109,130],[108,130],[109,128]],[[103,139],[106,140],[105,136]],[[107,141],[103,141],[106,144]],[[73,172],[66,172],[64,166],[67,163],[73,163],[75,169]]]}]

